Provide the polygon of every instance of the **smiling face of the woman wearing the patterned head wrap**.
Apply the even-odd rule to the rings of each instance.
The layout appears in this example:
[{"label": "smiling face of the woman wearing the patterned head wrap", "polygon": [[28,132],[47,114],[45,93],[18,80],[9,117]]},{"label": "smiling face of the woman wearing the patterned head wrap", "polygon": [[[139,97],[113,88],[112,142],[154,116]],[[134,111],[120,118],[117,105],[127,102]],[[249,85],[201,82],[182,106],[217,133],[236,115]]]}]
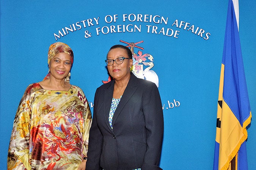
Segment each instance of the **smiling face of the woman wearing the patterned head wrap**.
[{"label": "smiling face of the woman wearing the patterned head wrap", "polygon": [[65,79],[71,69],[71,56],[67,53],[58,53],[50,61],[50,73],[52,78]]}]

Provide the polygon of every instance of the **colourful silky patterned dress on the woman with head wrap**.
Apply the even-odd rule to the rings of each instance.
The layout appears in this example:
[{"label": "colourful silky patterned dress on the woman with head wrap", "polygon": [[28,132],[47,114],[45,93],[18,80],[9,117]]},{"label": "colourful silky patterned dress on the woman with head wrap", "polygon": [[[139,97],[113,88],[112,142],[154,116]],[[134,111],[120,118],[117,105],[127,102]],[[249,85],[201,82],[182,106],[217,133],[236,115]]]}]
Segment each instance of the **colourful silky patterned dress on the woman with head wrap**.
[{"label": "colourful silky patterned dress on the woman with head wrap", "polygon": [[91,111],[83,91],[27,87],[9,144],[8,170],[76,170],[87,156]]}]

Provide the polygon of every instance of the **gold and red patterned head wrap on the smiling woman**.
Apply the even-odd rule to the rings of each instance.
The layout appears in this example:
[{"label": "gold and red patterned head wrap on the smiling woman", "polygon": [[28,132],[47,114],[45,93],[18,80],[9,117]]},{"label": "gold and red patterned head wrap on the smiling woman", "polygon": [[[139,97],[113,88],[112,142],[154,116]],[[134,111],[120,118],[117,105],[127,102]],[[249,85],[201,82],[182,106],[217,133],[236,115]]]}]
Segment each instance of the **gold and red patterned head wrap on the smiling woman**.
[{"label": "gold and red patterned head wrap on the smiling woman", "polygon": [[[50,47],[49,47],[49,51],[48,51],[48,65],[49,66],[50,66],[50,61],[52,60],[52,58],[58,53],[69,54],[69,56],[71,56],[71,64],[73,64],[74,54],[73,54],[72,49],[65,43],[56,42],[56,43],[53,43],[52,45],[50,45]],[[49,79],[49,77],[50,77],[50,70],[48,71],[48,74],[46,75],[46,77],[44,77],[44,80]],[[65,82],[69,83],[69,77],[70,77],[70,73],[65,78]]]}]

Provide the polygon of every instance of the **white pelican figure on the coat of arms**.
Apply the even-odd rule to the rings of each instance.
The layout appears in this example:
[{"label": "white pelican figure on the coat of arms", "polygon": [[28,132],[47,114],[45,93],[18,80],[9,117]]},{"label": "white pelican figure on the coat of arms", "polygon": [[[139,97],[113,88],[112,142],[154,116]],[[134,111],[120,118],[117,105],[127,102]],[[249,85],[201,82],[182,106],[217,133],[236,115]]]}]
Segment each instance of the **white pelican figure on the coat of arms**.
[{"label": "white pelican figure on the coat of arms", "polygon": [[150,70],[152,67],[154,67],[154,63],[153,62],[142,62],[142,63],[144,65],[148,66],[143,71],[144,79],[149,80],[149,81],[155,83],[155,85],[158,88],[159,87],[158,76],[157,76],[157,74],[153,70]]}]

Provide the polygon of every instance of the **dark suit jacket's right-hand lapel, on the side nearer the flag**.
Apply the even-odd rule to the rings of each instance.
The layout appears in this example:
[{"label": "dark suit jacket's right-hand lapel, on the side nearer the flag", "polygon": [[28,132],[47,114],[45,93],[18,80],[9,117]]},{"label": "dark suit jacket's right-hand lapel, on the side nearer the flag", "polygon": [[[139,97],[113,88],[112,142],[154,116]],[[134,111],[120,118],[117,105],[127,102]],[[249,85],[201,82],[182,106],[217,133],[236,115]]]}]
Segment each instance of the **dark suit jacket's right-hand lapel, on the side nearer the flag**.
[{"label": "dark suit jacket's right-hand lapel, on the side nearer the flag", "polygon": [[[124,94],[118,104],[118,107],[116,108],[115,114],[113,116],[112,120],[112,126],[114,126],[116,119],[118,118],[119,114],[123,110],[124,106],[127,104],[127,102],[130,100],[132,95],[135,93],[137,89],[137,77],[131,74],[130,80],[127,84],[126,89],[124,90]],[[113,93],[112,93],[113,94]]]}]

